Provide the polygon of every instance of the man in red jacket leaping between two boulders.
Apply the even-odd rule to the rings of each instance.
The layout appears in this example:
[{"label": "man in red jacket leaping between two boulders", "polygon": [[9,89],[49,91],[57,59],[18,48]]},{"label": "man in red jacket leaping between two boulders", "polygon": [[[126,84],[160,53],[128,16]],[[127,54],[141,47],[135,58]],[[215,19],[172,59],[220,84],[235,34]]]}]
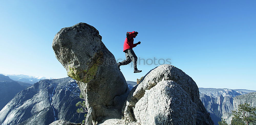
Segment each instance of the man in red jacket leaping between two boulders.
[{"label": "man in red jacket leaping between two boulders", "polygon": [[136,44],[133,44],[133,38],[135,38],[137,36],[138,32],[127,32],[126,33],[126,38],[124,40],[124,51],[125,52],[125,57],[126,60],[117,63],[117,66],[120,70],[120,66],[121,65],[127,65],[131,62],[133,62],[133,73],[139,73],[142,72],[141,70],[137,69],[137,56],[135,55],[134,51],[132,50],[133,47],[137,46],[138,44],[141,44],[141,42],[139,41]]}]

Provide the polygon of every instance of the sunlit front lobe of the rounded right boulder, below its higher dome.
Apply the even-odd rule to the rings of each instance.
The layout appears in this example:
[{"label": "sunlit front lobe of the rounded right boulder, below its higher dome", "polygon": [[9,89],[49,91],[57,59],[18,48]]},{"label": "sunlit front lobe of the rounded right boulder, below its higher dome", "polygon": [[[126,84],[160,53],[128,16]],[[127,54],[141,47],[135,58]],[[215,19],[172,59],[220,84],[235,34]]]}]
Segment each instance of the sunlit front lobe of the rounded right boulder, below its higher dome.
[{"label": "sunlit front lobe of the rounded right boulder, below its higher dome", "polygon": [[196,104],[181,85],[164,80],[145,90],[133,112],[140,124],[195,124],[195,109]]}]

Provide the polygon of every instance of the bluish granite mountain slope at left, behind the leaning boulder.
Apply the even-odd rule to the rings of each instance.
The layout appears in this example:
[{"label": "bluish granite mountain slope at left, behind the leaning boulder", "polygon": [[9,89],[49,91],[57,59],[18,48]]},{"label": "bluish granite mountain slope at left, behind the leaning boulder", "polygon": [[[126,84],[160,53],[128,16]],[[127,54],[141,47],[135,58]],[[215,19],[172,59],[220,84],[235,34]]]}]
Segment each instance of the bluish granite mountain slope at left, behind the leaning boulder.
[{"label": "bluish granite mountain slope at left, behind the leaning boulder", "polygon": [[48,125],[58,119],[81,122],[84,113],[76,113],[80,90],[71,78],[40,80],[20,91],[0,111],[0,124]]}]

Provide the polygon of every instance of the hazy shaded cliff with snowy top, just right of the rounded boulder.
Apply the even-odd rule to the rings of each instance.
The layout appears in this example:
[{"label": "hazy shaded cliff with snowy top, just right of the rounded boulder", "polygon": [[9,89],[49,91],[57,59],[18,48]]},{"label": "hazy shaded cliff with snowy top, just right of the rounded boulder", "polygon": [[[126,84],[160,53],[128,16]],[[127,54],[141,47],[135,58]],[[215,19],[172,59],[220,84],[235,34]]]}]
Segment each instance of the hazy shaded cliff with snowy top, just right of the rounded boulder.
[{"label": "hazy shaded cliff with snowy top, just right of the rounded boulder", "polygon": [[199,88],[200,100],[204,104],[207,112],[210,113],[214,124],[218,124],[221,118],[231,122],[230,115],[232,114],[233,103],[236,96],[254,92],[253,90],[244,89],[215,89],[215,88]]}]

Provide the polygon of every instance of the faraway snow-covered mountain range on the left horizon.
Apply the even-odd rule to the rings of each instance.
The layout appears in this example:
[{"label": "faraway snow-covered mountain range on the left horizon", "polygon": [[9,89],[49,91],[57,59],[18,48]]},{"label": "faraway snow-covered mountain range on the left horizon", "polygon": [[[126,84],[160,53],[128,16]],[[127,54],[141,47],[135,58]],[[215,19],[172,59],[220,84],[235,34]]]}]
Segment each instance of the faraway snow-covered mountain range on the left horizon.
[{"label": "faraway snow-covered mountain range on the left horizon", "polygon": [[12,80],[26,82],[29,84],[34,84],[42,79],[54,79],[53,77],[43,77],[43,76],[39,77],[39,76],[29,76],[29,75],[22,75],[22,74],[19,74],[19,75],[17,74],[9,75],[9,74],[3,74],[3,73],[0,73],[0,74],[9,76],[9,78]]}]

